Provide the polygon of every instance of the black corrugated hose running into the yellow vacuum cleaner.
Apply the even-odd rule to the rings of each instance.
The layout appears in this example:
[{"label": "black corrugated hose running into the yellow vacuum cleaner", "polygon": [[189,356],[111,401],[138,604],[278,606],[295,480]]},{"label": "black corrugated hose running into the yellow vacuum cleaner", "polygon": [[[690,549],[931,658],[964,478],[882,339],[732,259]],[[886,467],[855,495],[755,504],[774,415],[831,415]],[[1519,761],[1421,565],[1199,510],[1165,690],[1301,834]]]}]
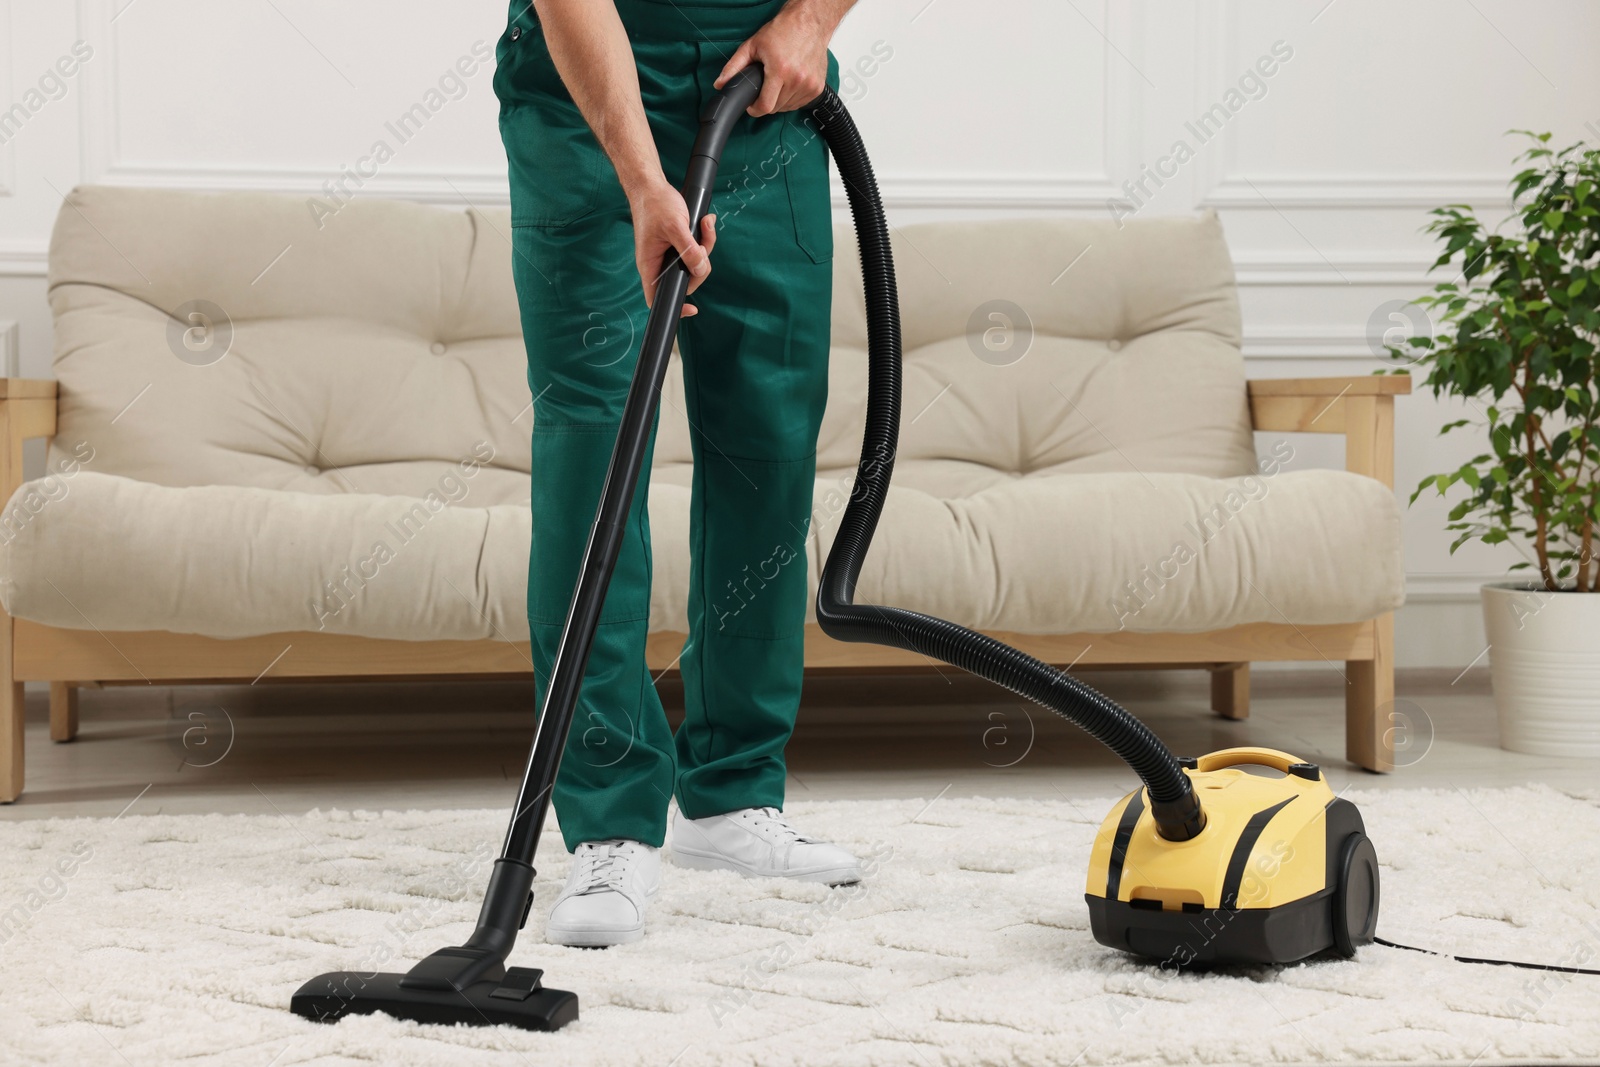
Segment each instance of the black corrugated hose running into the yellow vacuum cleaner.
[{"label": "black corrugated hose running into the yellow vacuum cleaner", "polygon": [[867,424],[861,462],[834,547],[822,565],[816,621],[838,641],[904,648],[960,667],[1040,704],[1083,728],[1115,752],[1144,781],[1157,832],[1186,841],[1205,829],[1205,811],[1178,758],[1110,697],[1066,670],[944,619],[917,611],[854,603],[856,579],[888,499],[899,443],[901,326],[894,258],[877,179],[856,123],[832,90],[806,107],[827,142],[850,197],[861,245],[867,304]]}]

